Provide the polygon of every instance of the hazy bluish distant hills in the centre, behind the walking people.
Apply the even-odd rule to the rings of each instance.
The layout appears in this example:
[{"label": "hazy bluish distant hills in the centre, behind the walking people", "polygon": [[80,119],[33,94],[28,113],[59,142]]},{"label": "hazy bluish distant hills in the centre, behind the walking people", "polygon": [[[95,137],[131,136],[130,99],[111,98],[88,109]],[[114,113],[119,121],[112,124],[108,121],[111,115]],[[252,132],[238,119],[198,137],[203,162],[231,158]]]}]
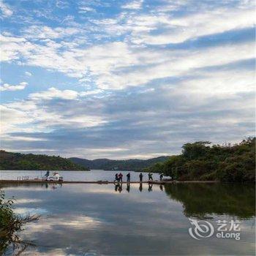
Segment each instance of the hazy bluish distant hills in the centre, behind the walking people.
[{"label": "hazy bluish distant hills in the centre, behind the walking people", "polygon": [[83,159],[78,157],[69,158],[72,162],[91,170],[142,170],[143,168],[154,165],[157,162],[165,162],[168,157],[156,157],[152,159],[128,159],[128,160],[112,160],[112,159]]}]

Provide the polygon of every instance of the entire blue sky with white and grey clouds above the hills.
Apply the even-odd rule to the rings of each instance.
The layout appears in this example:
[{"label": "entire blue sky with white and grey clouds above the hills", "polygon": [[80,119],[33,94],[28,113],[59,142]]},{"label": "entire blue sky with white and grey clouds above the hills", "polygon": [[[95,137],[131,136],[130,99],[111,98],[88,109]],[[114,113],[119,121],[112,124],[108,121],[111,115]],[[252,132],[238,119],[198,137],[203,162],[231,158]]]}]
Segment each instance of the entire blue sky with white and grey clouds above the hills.
[{"label": "entire blue sky with white and grey clouds above the hills", "polygon": [[255,134],[255,1],[0,0],[1,148],[148,159]]}]

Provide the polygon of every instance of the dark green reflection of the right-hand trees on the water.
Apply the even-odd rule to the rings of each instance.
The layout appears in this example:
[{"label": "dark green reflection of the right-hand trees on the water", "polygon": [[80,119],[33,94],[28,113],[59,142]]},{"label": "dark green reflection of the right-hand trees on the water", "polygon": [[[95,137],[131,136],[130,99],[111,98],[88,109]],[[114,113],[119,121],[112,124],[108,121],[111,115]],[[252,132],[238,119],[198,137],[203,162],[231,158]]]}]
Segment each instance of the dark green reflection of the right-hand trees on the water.
[{"label": "dark green reflection of the right-hand trees on the water", "polygon": [[254,184],[168,184],[165,192],[170,199],[183,204],[187,217],[206,219],[208,214],[255,217]]}]

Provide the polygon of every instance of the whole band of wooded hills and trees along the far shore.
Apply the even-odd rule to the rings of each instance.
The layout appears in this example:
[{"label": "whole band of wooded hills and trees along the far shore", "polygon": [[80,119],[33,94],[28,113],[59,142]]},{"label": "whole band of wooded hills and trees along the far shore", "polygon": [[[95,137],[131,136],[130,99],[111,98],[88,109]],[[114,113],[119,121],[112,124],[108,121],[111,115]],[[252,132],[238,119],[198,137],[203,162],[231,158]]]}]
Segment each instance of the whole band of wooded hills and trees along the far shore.
[{"label": "whole band of wooded hills and trees along the far shore", "polygon": [[225,145],[212,145],[209,141],[187,143],[179,155],[148,160],[65,159],[0,151],[0,170],[89,170],[88,165],[96,169],[104,166],[108,170],[163,173],[179,181],[255,182],[255,138]]}]

